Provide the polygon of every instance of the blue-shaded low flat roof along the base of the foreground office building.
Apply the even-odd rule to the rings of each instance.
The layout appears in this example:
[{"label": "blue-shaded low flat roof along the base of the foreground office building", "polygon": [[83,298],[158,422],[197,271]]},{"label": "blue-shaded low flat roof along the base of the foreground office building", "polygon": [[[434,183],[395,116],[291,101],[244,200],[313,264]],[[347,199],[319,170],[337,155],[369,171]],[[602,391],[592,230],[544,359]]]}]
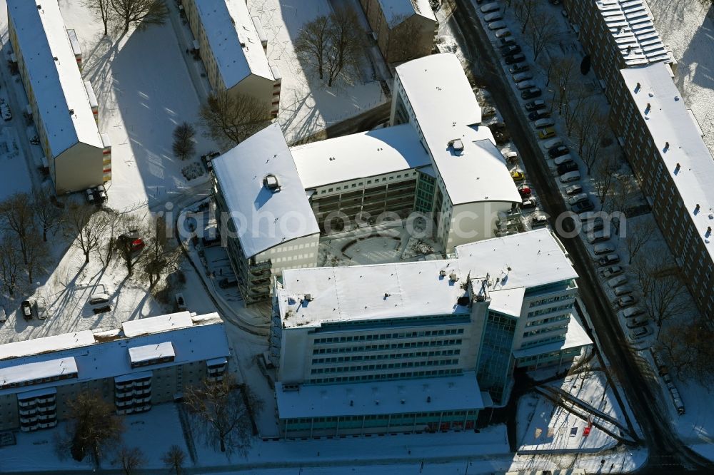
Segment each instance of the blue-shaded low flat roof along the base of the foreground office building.
[{"label": "blue-shaded low flat roof along the base of the foreground office building", "polygon": [[483,409],[476,374],[356,384],[303,384],[283,391],[276,382],[280,419]]}]

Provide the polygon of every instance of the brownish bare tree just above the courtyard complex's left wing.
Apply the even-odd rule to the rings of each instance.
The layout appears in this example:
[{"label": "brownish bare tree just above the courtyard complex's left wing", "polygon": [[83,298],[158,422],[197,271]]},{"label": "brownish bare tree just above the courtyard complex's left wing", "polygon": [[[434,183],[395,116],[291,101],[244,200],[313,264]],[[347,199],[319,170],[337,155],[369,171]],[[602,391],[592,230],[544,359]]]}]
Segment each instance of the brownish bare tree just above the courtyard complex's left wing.
[{"label": "brownish bare tree just above the courtyard complex's left wing", "polygon": [[244,94],[218,91],[208,96],[198,112],[205,134],[223,148],[232,148],[268,126],[270,106]]}]

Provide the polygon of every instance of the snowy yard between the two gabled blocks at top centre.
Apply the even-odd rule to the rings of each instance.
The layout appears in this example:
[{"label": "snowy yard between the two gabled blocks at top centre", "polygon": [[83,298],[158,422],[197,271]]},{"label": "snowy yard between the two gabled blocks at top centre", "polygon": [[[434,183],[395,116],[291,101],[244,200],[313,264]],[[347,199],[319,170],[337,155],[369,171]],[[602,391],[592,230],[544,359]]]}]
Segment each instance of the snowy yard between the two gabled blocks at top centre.
[{"label": "snowy yard between the two gabled blocks at top centre", "polygon": [[[362,15],[356,1],[338,3],[352,6]],[[280,70],[278,122],[288,143],[308,138],[387,100],[379,83],[380,71],[385,68],[373,64],[374,55],[368,55],[370,59],[363,61],[361,74],[351,78],[353,83],[341,79],[331,88],[313,74],[311,66],[298,60],[293,41],[306,22],[330,14],[331,1],[250,0],[248,9],[261,20],[268,36],[268,63]],[[391,86],[391,81],[388,82]]]}]

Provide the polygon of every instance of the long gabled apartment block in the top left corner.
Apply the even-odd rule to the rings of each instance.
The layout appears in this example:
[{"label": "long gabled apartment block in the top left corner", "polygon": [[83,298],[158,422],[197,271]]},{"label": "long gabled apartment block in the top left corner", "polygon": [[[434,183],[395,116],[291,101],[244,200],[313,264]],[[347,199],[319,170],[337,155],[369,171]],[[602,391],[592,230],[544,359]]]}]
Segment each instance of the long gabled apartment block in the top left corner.
[{"label": "long gabled apartment block in the top left corner", "polygon": [[[111,179],[111,145],[100,134],[78,58],[56,1],[8,0],[8,36],[56,193]],[[81,58],[81,56],[80,56]]]}]

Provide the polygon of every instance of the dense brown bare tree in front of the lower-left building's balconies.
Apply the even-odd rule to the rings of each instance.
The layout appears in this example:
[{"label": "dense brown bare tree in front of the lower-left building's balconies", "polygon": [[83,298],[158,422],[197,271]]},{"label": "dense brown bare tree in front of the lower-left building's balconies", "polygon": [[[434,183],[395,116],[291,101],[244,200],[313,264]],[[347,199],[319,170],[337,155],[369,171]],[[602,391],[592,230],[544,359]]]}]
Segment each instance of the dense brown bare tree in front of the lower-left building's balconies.
[{"label": "dense brown bare tree in front of the lower-left building's balconies", "polygon": [[80,392],[68,404],[72,457],[82,460],[89,455],[98,465],[104,451],[121,439],[124,424],[97,394]]}]

